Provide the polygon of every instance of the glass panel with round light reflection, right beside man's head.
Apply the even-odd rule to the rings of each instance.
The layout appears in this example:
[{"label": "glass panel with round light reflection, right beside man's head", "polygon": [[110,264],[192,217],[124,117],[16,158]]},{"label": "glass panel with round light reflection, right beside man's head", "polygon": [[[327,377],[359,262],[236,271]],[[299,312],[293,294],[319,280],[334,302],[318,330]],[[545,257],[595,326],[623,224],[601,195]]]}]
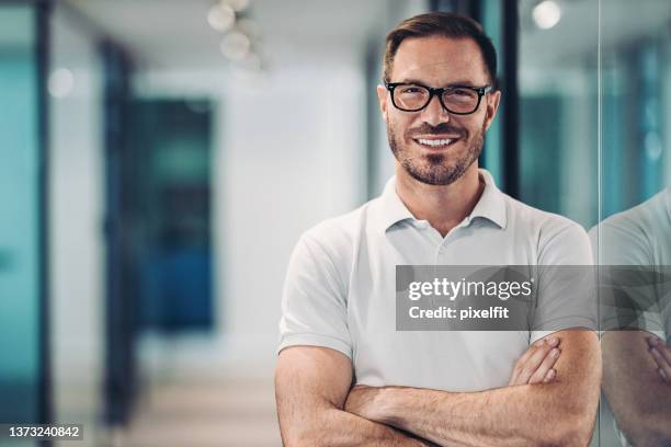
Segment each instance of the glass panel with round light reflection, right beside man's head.
[{"label": "glass panel with round light reflection, right beside man's head", "polygon": [[598,216],[598,0],[521,0],[520,199]]}]

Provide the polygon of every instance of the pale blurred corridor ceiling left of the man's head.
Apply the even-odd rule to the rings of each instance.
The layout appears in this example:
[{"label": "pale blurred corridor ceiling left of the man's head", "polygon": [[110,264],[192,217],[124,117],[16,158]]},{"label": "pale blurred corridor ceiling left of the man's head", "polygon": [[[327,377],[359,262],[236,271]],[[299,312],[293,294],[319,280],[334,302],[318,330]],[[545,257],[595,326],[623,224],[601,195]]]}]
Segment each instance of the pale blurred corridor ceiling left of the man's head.
[{"label": "pale blurred corridor ceiling left of the man's head", "polygon": [[[214,0],[65,0],[79,15],[127,48],[145,69],[217,69],[221,34],[207,24]],[[368,36],[384,38],[386,0],[250,0],[244,11],[255,24],[263,56],[352,57]]]}]

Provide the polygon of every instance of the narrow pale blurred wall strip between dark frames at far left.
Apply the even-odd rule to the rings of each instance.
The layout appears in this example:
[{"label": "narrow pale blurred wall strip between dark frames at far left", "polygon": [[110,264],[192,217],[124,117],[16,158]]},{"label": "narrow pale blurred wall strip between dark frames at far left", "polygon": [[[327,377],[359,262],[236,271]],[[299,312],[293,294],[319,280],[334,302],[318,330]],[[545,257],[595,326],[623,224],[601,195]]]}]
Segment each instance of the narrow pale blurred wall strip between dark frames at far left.
[{"label": "narrow pale blurred wall strip between dark frames at far left", "polygon": [[57,421],[96,421],[104,360],[101,64],[91,38],[60,8],[52,68],[67,68],[69,95],[50,98],[49,266]]}]

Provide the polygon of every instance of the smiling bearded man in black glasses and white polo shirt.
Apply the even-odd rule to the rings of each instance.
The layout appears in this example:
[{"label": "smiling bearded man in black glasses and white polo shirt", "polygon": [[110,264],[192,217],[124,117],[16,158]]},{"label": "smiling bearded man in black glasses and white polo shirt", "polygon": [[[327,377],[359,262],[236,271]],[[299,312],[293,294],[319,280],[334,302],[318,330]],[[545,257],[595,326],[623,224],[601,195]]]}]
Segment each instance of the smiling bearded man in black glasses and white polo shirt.
[{"label": "smiling bearded man in black glasses and white polo shirt", "polygon": [[396,265],[591,263],[584,230],[478,169],[501,98],[494,73],[493,46],[469,19],[422,14],[387,36],[377,94],[396,176],[292,255],[275,377],[285,445],[589,442],[599,343],[592,331],[547,330],[591,325],[564,298],[539,303],[523,331],[396,330]]}]

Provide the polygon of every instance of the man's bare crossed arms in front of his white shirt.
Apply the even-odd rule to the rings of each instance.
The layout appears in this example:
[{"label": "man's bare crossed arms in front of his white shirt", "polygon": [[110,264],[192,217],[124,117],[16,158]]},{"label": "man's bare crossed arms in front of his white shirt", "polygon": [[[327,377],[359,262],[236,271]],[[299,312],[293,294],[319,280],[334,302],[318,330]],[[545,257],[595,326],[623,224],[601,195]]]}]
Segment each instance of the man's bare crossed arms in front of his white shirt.
[{"label": "man's bare crossed arms in front of his white shirt", "polygon": [[289,447],[588,445],[601,380],[598,337],[570,330],[550,339],[518,360],[509,387],[479,392],[352,388],[343,354],[285,348],[275,375],[282,438]]}]

